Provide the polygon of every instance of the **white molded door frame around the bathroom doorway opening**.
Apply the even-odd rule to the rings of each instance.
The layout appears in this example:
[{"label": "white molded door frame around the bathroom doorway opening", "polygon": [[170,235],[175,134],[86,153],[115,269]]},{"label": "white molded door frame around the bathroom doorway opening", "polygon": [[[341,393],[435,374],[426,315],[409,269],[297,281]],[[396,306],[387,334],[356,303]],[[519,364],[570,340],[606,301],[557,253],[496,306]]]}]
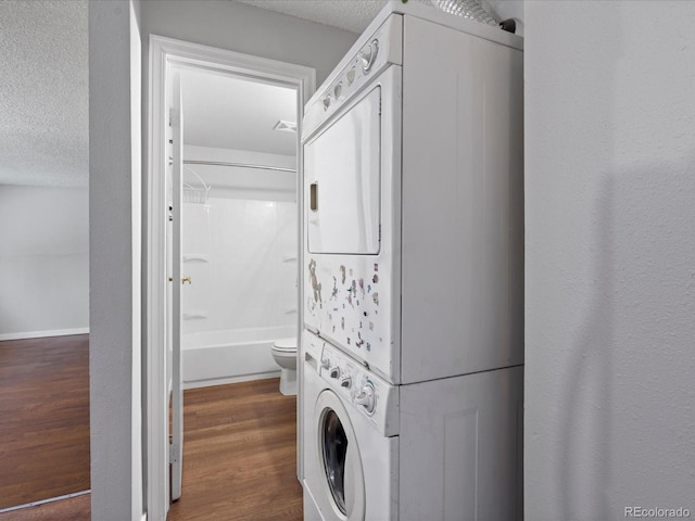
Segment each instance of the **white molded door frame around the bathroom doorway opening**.
[{"label": "white molded door frame around the bathroom doorway opening", "polygon": [[[254,78],[296,88],[296,198],[302,215],[301,117],[304,104],[316,88],[316,71],[312,67],[242,54],[235,51],[190,43],[156,35],[150,36],[149,106],[148,106],[148,176],[146,181],[146,333],[142,385],[146,390],[143,419],[146,508],[148,519],[163,520],[169,506],[168,493],[168,406],[166,382],[166,128],[167,86],[170,65],[204,67],[230,75]],[[302,220],[298,220],[298,269],[303,265]],[[298,278],[300,274],[298,272]],[[301,279],[298,279],[301,280]],[[303,296],[298,291],[298,332],[302,325]],[[299,333],[298,333],[299,334]],[[298,364],[298,370],[299,370]],[[301,391],[301,390],[300,390]],[[298,408],[301,401],[298,399]],[[301,415],[301,410],[298,410]],[[301,416],[299,416],[301,418]],[[298,443],[301,443],[298,436]],[[300,445],[301,446],[301,445]],[[298,461],[300,452],[298,450]],[[298,466],[299,474],[301,469]]]}]

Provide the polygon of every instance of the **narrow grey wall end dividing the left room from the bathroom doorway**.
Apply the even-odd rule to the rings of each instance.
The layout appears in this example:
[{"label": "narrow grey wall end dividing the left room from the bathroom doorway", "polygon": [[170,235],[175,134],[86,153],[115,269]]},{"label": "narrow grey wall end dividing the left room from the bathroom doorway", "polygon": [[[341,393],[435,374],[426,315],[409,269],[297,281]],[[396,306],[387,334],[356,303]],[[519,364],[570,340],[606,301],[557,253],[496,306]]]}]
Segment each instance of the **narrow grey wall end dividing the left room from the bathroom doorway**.
[{"label": "narrow grey wall end dividing the left room from the bathroom doorway", "polygon": [[89,3],[91,518],[140,520],[140,34],[134,0]]}]

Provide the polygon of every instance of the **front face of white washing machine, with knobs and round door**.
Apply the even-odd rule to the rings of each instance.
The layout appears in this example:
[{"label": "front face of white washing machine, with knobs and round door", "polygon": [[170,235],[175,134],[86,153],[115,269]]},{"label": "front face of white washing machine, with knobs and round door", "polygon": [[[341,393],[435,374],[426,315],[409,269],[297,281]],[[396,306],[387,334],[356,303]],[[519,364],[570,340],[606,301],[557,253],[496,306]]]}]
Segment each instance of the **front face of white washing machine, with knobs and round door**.
[{"label": "front face of white washing machine, with knobs and round door", "polygon": [[396,519],[397,387],[314,334],[303,342],[304,519]]}]

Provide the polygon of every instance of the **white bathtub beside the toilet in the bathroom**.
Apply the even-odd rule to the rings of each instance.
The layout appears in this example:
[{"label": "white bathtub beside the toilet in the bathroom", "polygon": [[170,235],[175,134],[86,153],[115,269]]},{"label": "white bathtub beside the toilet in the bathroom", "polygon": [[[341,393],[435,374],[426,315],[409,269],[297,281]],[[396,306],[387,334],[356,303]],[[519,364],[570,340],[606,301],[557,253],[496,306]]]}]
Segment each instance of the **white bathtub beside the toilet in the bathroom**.
[{"label": "white bathtub beside the toilet in the bathroom", "polygon": [[293,326],[184,333],[184,387],[279,377],[270,346],[278,339],[295,335]]}]

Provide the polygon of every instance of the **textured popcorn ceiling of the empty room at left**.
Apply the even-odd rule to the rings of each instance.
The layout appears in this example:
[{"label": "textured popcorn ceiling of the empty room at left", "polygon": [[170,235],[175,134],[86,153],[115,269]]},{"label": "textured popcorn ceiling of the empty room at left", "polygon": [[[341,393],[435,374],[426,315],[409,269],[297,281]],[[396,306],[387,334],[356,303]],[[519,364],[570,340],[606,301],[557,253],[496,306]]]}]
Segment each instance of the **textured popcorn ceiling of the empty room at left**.
[{"label": "textured popcorn ceiling of the empty room at left", "polygon": [[0,1],[0,185],[87,186],[87,1]]}]

